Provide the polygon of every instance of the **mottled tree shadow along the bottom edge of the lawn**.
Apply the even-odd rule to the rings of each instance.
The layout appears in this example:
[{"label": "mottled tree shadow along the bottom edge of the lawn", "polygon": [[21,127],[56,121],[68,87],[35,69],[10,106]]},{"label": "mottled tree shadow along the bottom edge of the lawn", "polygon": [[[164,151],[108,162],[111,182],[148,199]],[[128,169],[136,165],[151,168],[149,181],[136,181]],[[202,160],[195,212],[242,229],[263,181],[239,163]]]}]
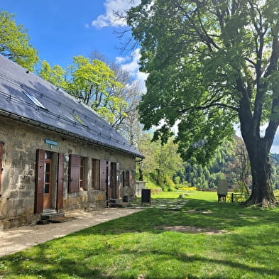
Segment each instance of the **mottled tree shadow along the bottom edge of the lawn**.
[{"label": "mottled tree shadow along the bottom edge of the lawn", "polygon": [[[199,266],[202,269],[207,266],[208,272],[212,275],[204,276],[203,279],[231,279],[236,278],[233,274],[248,273],[255,278],[278,278],[278,268],[265,268],[249,266],[245,263],[240,263],[237,259],[226,260],[213,257],[205,257],[199,255],[187,255],[177,253],[177,251],[165,252],[162,249],[153,249],[146,251],[138,251],[124,248],[121,251],[104,251],[101,248],[98,251],[92,251],[90,248],[83,249],[82,253],[69,254],[68,256],[61,256],[58,253],[58,258],[49,258],[48,249],[51,248],[48,244],[43,244],[37,247],[37,253],[33,253],[30,258],[28,253],[20,252],[15,255],[7,256],[6,261],[11,261],[9,273],[13,274],[11,278],[21,278],[24,276],[31,276],[31,278],[99,278],[99,279],[137,279],[140,274],[144,274],[143,278],[148,279],[197,279],[201,278],[197,270],[192,271],[191,265]],[[102,262],[96,263],[93,261],[94,256],[104,253],[105,257],[112,258],[110,266],[102,266]],[[82,255],[82,257],[80,257]],[[119,259],[128,258],[127,263],[122,263],[117,266]],[[115,262],[114,262],[115,261]],[[170,265],[170,261],[180,263],[182,270],[175,270]],[[29,268],[31,262],[35,263],[36,267]],[[133,266],[134,262],[141,263]],[[55,264],[53,264],[55,263]],[[222,273],[217,275],[215,270],[222,270]],[[131,273],[127,274],[125,269],[133,269]],[[156,273],[160,270],[160,274]],[[162,274],[165,272],[165,275]],[[193,274],[195,272],[195,274]],[[177,275],[180,273],[181,275]],[[1,272],[0,272],[1,275]],[[2,273],[2,275],[5,275]],[[9,274],[7,273],[7,278]],[[33,276],[33,277],[32,277]],[[146,277],[145,277],[146,276]],[[259,277],[260,276],[260,277]],[[271,276],[271,277],[270,277]]]}]

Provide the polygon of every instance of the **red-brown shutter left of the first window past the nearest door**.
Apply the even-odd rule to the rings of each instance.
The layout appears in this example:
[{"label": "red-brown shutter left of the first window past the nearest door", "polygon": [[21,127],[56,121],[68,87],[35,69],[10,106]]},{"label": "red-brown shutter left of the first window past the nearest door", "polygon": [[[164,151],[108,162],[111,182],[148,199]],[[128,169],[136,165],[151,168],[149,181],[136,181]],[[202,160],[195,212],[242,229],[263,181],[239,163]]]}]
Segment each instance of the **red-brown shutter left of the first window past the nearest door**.
[{"label": "red-brown shutter left of the first window past the nearest door", "polygon": [[80,191],[80,156],[69,155],[69,193]]}]

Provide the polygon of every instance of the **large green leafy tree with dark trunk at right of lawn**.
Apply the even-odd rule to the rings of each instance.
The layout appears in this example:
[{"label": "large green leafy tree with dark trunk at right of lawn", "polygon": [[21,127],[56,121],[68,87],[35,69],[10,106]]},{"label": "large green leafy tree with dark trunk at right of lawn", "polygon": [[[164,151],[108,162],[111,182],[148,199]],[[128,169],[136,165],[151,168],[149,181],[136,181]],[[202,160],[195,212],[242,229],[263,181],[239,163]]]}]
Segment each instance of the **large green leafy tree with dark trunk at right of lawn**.
[{"label": "large green leafy tree with dark trunk at right of lawn", "polygon": [[[246,204],[275,204],[270,147],[279,124],[279,4],[277,0],[142,0],[128,11],[141,44],[147,94],[145,128],[170,136],[183,158],[204,162],[234,133],[251,162]],[[264,131],[262,131],[264,128]]]}]

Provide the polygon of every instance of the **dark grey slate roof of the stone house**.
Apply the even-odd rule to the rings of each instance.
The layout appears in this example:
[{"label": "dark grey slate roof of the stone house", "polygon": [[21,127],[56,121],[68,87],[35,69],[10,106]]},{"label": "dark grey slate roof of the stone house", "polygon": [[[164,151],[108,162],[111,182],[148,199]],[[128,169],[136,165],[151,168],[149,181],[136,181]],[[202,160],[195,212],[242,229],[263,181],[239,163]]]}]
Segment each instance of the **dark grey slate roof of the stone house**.
[{"label": "dark grey slate roof of the stone house", "polygon": [[143,158],[89,106],[2,55],[0,114]]}]

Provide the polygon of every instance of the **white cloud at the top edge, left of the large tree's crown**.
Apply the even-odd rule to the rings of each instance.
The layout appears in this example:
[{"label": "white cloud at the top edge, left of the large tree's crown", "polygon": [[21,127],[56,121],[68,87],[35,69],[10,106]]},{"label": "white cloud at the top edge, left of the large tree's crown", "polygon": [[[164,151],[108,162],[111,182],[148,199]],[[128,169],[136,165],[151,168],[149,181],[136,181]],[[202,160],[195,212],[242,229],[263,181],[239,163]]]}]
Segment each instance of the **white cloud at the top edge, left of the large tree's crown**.
[{"label": "white cloud at the top edge, left of the large tree's crown", "polygon": [[126,11],[132,6],[138,6],[141,0],[106,0],[104,7],[106,9],[104,14],[101,14],[92,21],[92,26],[103,28],[106,26],[126,26],[125,18],[116,18],[115,12],[125,16]]}]

